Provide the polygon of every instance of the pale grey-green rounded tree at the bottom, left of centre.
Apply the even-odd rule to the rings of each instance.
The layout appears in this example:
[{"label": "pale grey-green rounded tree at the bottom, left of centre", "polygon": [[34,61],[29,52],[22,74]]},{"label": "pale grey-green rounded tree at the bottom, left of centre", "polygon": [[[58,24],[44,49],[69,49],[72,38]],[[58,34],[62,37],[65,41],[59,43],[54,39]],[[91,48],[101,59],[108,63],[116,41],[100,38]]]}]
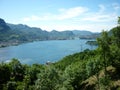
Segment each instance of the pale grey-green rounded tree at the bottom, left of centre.
[{"label": "pale grey-green rounded tree at the bottom, left of centre", "polygon": [[35,90],[58,90],[58,71],[49,65],[38,75],[35,82]]}]

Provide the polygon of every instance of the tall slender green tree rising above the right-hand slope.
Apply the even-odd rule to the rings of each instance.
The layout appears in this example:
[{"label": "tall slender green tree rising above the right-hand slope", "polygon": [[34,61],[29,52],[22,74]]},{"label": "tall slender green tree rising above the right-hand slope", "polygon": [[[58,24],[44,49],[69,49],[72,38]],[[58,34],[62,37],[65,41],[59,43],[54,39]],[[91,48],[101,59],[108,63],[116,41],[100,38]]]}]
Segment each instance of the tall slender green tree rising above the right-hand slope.
[{"label": "tall slender green tree rising above the right-hand slope", "polygon": [[111,40],[110,40],[110,37],[108,36],[108,32],[103,31],[101,37],[97,39],[97,42],[98,42],[98,50],[100,52],[99,54],[101,59],[103,60],[103,66],[106,73],[107,72],[106,68],[111,62],[109,59]]}]

